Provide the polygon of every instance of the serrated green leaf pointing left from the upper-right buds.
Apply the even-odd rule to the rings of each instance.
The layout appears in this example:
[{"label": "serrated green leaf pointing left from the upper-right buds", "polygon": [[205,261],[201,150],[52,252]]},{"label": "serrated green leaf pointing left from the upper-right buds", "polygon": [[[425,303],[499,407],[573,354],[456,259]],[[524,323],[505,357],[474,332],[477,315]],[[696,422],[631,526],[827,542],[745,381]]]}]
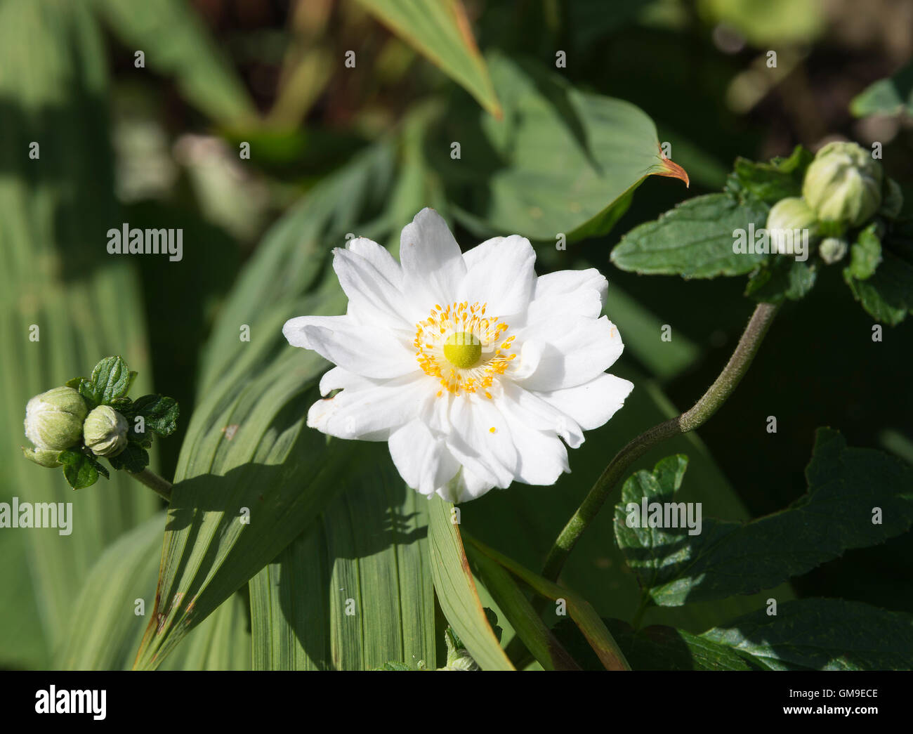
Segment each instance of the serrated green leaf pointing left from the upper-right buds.
[{"label": "serrated green leaf pointing left from the upper-right buds", "polygon": [[748,240],[749,225],[763,227],[768,211],[754,199],[740,204],[727,194],[696,196],[654,222],[635,226],[614,247],[612,262],[647,275],[743,275],[771,256],[734,252],[736,230],[743,230]]}]

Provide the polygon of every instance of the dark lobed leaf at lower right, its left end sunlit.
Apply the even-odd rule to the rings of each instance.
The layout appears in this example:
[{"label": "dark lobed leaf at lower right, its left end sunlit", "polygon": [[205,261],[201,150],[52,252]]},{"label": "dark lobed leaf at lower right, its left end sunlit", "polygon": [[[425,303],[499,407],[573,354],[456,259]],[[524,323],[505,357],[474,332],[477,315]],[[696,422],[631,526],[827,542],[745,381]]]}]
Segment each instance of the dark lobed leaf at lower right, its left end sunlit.
[{"label": "dark lobed leaf at lower right, its left end sunlit", "polygon": [[[637,472],[624,483],[615,507],[618,544],[645,594],[662,606],[769,589],[913,524],[913,470],[893,456],[847,448],[827,428],[818,430],[805,471],[808,493],[748,524],[701,518],[692,535],[680,514],[686,508],[675,497],[685,467],[685,456],[669,456],[652,474]],[[662,520],[665,527],[649,527],[656,511],[651,503],[670,513]],[[873,515],[876,509],[883,517]],[[696,519],[698,507],[691,511]]]}]

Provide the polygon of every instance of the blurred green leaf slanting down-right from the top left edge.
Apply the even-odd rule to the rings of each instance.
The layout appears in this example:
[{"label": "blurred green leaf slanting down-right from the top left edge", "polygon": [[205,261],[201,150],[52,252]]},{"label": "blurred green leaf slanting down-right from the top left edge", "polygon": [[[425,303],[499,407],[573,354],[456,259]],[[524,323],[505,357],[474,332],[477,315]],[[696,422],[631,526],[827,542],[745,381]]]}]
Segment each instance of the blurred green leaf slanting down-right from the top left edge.
[{"label": "blurred green leaf slanting down-right from the top left edge", "polygon": [[[235,70],[184,0],[94,0],[101,16],[131,52],[171,76],[184,97],[215,121],[244,124],[254,103]],[[134,65],[137,63],[134,57]]]}]

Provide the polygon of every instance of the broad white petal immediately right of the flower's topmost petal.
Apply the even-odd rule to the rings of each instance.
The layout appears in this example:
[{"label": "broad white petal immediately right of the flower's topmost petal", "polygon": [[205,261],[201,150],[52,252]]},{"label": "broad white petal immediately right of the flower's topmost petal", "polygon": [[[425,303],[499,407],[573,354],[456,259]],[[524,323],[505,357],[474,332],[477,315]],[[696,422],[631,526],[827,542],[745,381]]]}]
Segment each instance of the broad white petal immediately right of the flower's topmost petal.
[{"label": "broad white petal immediately right of the flower's topmost petal", "polygon": [[530,305],[536,287],[536,253],[526,237],[494,237],[463,258],[467,274],[457,300],[488,303],[486,312],[492,316],[520,313]]}]

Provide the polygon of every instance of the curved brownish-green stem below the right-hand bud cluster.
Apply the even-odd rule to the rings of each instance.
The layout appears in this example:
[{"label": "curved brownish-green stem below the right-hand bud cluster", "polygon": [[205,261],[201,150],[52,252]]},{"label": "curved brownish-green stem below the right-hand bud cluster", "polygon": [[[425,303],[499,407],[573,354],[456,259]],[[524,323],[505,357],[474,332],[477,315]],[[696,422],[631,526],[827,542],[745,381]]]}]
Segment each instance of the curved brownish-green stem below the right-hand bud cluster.
[{"label": "curved brownish-green stem below the right-hand bud cluster", "polygon": [[545,565],[542,567],[542,575],[550,581],[557,580],[561,574],[561,568],[564,561],[567,560],[574,544],[587,529],[593,518],[603,507],[605,499],[615,485],[624,478],[628,468],[646,451],[656,444],[665,441],[673,435],[684,434],[693,431],[699,425],[703,425],[708,418],[717,412],[719,406],[726,402],[726,399],[736,389],[758,348],[767,330],[770,329],[771,321],[779,309],[779,305],[772,303],[759,303],[751,314],[748,326],[741,335],[739,344],[726,367],[719,373],[716,381],[710,385],[708,391],[704,393],[700,400],[694,406],[676,418],[671,418],[664,423],[655,425],[646,430],[641,435],[630,441],[621,451],[619,451],[609,465],[603,470],[603,474],[596,480],[590,493],[583,499],[581,506],[574,512],[572,518],[568,520],[564,529],[561,530],[558,538],[555,539],[551,546],[549,555],[546,558]]}]

